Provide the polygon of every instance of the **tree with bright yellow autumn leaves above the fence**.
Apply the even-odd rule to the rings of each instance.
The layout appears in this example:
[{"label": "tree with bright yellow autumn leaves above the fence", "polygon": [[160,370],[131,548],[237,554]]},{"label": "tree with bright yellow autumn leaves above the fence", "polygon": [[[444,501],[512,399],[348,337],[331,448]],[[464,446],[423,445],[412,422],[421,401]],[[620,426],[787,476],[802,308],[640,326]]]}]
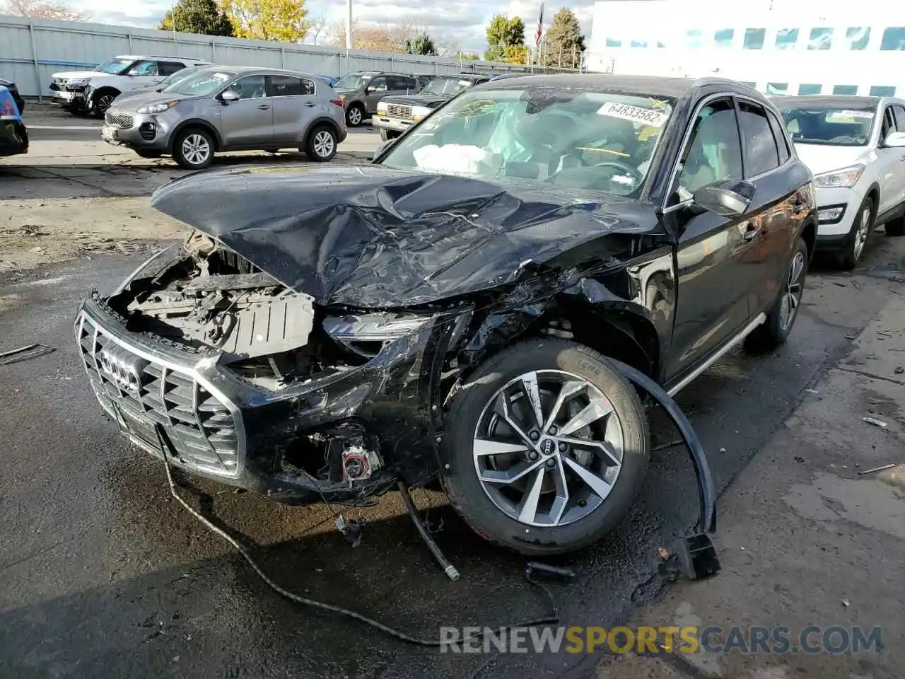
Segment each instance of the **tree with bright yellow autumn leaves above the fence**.
[{"label": "tree with bright yellow autumn leaves above the fence", "polygon": [[308,34],[305,0],[224,0],[237,38],[300,43]]}]

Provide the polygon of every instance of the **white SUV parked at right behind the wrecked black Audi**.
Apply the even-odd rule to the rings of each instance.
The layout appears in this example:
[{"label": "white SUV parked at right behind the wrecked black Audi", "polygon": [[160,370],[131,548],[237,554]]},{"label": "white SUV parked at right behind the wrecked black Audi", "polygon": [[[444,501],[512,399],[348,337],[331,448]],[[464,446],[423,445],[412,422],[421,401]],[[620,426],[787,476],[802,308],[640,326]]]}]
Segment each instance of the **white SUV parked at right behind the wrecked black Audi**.
[{"label": "white SUV parked at right behind the wrecked black Audi", "polygon": [[873,227],[905,234],[905,100],[774,97],[798,158],[814,173],[817,249],[852,269]]}]

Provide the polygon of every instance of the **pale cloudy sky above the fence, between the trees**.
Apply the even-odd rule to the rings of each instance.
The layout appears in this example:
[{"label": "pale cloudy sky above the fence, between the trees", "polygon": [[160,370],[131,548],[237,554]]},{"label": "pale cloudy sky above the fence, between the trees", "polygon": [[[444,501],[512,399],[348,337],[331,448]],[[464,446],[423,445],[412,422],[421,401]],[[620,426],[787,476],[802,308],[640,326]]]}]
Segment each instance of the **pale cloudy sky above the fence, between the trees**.
[{"label": "pale cloudy sky above the fence, between the trees", "polygon": [[[548,1],[544,9],[544,24],[548,26],[553,14],[562,6],[568,6],[577,14],[587,35],[594,1],[574,0],[568,4]],[[124,4],[116,10],[110,9],[110,0],[71,0],[71,5],[87,10],[93,21],[101,24],[141,28],[154,28],[169,7],[167,0]],[[124,9],[125,6],[129,9]],[[310,16],[326,15],[328,26],[346,16],[343,0],[307,0],[305,6]],[[428,33],[460,41],[462,50],[482,53],[487,46],[484,31],[493,14],[520,16],[525,22],[526,41],[533,43],[539,9],[539,0],[353,0],[352,15],[362,24],[424,25]],[[393,17],[392,21],[388,17]],[[322,35],[318,42],[326,43],[326,36]]]}]

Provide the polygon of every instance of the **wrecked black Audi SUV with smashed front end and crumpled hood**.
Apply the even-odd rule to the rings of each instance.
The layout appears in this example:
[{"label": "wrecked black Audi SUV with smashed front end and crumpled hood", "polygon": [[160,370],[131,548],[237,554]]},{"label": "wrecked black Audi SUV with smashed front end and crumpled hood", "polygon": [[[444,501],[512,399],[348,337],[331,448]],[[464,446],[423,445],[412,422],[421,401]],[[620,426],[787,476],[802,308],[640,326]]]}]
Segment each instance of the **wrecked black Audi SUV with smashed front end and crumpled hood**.
[{"label": "wrecked black Audi SUV with smashed front end and crumpled hood", "polygon": [[612,359],[674,394],[784,343],[811,173],[768,100],[715,79],[511,78],[414,130],[371,166],[159,188],[195,233],[84,302],[90,385],[190,473],[293,503],[439,476],[488,540],[575,550],[650,454]]}]

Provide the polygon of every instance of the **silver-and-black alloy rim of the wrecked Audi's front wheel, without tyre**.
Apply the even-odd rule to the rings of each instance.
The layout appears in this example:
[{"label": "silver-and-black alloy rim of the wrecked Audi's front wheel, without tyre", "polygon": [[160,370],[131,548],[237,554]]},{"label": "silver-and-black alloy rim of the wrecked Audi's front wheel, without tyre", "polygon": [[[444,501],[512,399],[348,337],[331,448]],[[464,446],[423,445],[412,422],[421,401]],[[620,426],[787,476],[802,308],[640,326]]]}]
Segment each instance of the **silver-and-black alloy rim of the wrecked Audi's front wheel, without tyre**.
[{"label": "silver-and-black alloy rim of the wrecked Audi's front wheel, without tyre", "polygon": [[622,469],[624,434],[614,406],[585,378],[525,373],[484,406],[473,437],[484,493],[531,526],[580,521],[605,502]]}]

